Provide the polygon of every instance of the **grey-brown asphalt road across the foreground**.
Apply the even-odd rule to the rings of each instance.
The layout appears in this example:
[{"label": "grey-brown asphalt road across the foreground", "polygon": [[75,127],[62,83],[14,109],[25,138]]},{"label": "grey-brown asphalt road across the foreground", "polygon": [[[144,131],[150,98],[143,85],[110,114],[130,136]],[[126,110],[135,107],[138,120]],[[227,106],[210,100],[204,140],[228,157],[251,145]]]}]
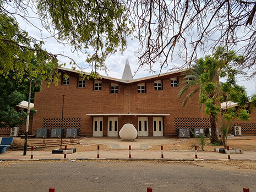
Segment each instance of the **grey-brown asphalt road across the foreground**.
[{"label": "grey-brown asphalt road across the foreground", "polygon": [[256,191],[255,170],[178,162],[30,162],[0,167],[1,192]]}]

